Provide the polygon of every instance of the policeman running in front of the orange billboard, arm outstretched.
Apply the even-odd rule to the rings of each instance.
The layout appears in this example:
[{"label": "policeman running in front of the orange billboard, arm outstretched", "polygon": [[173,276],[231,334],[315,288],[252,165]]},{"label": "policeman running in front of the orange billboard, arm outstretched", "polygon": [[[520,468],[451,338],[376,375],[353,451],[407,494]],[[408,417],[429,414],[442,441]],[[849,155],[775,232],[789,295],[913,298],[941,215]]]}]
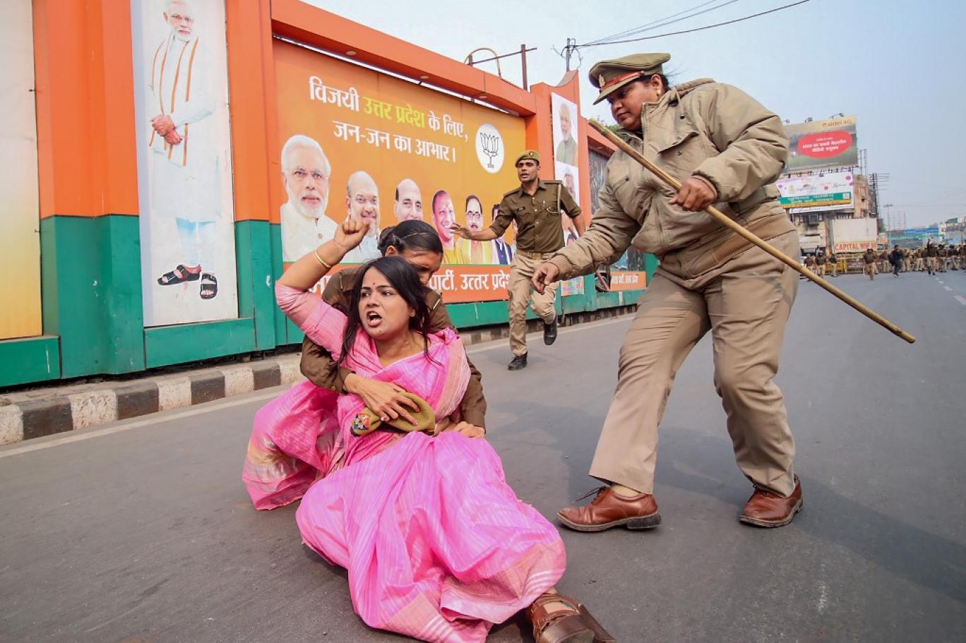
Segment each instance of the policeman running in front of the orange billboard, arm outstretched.
[{"label": "policeman running in front of the orange billboard, arm outstretched", "polygon": [[563,212],[574,220],[579,235],[584,225],[581,207],[570,191],[559,181],[539,178],[540,154],[527,150],[517,157],[517,178],[520,187],[503,195],[493,224],[486,230],[473,231],[454,225],[452,231],[462,238],[488,241],[502,237],[513,221],[517,222],[517,254],[510,265],[510,350],[513,359],[507,365],[511,371],[526,367],[526,306],[544,322],[544,344],[556,340],[556,284],[534,293],[530,285],[533,269],[554,256],[563,247]]}]

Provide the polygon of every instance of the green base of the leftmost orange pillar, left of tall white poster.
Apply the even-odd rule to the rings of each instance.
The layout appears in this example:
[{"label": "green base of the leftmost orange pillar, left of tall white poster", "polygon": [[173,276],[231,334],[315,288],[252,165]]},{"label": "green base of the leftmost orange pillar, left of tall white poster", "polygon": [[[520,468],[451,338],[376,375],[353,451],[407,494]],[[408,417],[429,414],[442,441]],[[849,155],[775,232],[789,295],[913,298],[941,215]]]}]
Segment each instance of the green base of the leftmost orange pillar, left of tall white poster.
[{"label": "green base of the leftmost orange pillar, left of tall white poster", "polygon": [[144,369],[136,216],[41,221],[43,332],[60,336],[62,377]]}]

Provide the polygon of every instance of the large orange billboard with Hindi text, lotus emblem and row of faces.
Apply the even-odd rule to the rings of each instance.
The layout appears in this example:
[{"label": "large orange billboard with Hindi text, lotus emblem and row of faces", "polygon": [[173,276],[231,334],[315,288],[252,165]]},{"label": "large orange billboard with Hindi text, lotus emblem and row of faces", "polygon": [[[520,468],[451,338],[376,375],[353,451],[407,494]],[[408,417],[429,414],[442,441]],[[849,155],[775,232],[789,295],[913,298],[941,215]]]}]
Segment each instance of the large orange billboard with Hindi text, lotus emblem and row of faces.
[{"label": "large orange billboard with Hindi text, lotus emblem and row of faces", "polygon": [[433,288],[447,302],[505,299],[512,232],[470,241],[455,223],[482,230],[505,192],[519,186],[513,159],[525,149],[523,119],[347,63],[274,42],[282,258],[290,264],[354,216],[369,234],[344,264],[380,256],[388,226],[431,225],[443,246]]}]

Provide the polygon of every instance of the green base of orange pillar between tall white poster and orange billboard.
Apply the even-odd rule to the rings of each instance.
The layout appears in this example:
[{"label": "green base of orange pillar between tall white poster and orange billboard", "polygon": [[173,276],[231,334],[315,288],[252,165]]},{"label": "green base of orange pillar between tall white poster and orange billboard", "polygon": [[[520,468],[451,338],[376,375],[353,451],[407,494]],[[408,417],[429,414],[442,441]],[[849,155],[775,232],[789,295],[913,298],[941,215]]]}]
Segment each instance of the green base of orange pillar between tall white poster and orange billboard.
[{"label": "green base of orange pillar between tall white poster and orange billboard", "polygon": [[239,315],[254,318],[257,349],[273,349],[276,344],[271,234],[268,221],[239,221],[235,224]]}]

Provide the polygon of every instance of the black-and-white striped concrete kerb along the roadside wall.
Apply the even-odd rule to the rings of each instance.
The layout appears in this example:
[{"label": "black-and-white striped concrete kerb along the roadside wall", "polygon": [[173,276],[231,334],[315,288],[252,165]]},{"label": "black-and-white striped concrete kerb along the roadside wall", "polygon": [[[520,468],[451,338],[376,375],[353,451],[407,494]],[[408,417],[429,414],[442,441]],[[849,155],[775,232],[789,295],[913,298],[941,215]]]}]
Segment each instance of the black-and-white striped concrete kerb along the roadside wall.
[{"label": "black-and-white striped concrete kerb along the roadside wall", "polygon": [[[633,312],[635,305],[591,313],[572,313],[563,325],[596,322]],[[542,328],[539,320],[527,330]],[[498,324],[463,331],[467,346],[509,337],[509,326]],[[0,446],[34,437],[88,429],[172,408],[199,405],[302,379],[298,353],[245,364],[201,368],[176,375],[128,381],[66,384],[41,390],[0,394]]]}]

